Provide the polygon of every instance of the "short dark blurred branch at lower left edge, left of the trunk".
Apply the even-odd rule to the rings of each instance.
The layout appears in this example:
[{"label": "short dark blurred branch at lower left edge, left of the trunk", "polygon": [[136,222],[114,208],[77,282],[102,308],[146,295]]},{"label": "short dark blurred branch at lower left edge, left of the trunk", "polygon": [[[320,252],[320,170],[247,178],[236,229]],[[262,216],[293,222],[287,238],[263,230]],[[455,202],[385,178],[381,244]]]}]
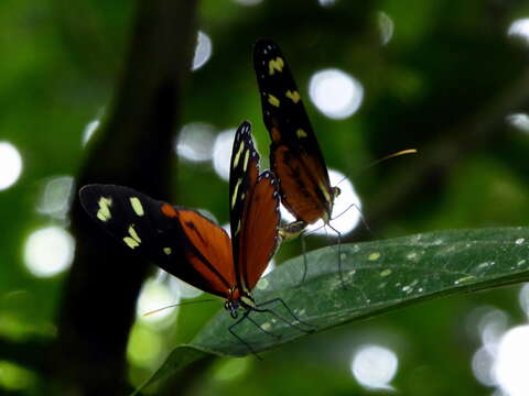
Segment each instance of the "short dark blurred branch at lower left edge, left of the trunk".
[{"label": "short dark blurred branch at lower left edge, left of the trunk", "polygon": [[52,340],[48,339],[35,338],[13,341],[0,338],[0,359],[45,375],[50,371],[47,355],[51,345]]}]

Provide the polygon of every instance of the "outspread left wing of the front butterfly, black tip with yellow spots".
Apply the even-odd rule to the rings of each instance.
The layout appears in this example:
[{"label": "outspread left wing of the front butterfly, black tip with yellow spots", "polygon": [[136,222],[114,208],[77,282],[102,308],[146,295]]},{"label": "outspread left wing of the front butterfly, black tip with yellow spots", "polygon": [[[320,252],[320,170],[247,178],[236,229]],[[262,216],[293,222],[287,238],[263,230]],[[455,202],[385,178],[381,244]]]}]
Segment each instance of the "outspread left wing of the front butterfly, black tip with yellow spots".
[{"label": "outspread left wing of the front butterfly, black tip with yellow spots", "polygon": [[226,297],[235,284],[227,233],[201,213],[128,187],[88,185],[85,211],[127,249],[202,290]]}]

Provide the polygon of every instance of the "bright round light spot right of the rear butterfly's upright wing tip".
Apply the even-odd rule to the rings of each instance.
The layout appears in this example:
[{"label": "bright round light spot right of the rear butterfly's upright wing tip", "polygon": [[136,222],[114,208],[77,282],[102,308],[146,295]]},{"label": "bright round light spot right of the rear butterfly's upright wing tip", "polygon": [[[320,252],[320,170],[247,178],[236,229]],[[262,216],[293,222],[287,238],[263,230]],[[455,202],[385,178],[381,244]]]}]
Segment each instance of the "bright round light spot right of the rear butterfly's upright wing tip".
[{"label": "bright round light spot right of the rear butterfly's upright wing tip", "polygon": [[358,110],[364,99],[364,87],[345,72],[330,68],[312,76],[309,95],[322,113],[342,120]]}]

